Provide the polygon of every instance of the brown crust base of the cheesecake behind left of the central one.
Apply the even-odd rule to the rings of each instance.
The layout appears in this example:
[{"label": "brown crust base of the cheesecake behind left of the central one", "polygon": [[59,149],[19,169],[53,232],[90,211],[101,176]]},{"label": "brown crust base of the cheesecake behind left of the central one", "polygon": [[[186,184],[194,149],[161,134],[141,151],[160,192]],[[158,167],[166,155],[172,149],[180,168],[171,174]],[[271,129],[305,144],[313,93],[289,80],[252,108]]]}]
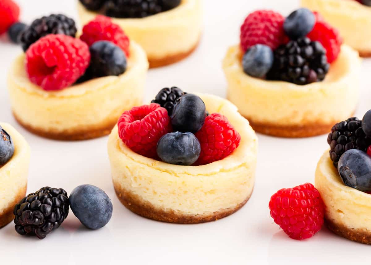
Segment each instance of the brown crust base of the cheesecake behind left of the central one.
[{"label": "brown crust base of the cheesecake behind left of the central one", "polygon": [[92,138],[102,137],[111,133],[112,128],[116,125],[118,118],[111,119],[110,121],[104,124],[98,124],[90,129],[84,130],[75,130],[75,131],[64,131],[64,132],[53,132],[46,131],[40,128],[32,127],[31,125],[23,123],[17,115],[13,112],[13,116],[16,121],[22,125],[27,131],[30,131],[33,134],[39,135],[44,138],[49,138],[53,140],[61,141],[79,141],[79,140],[88,140]]}]

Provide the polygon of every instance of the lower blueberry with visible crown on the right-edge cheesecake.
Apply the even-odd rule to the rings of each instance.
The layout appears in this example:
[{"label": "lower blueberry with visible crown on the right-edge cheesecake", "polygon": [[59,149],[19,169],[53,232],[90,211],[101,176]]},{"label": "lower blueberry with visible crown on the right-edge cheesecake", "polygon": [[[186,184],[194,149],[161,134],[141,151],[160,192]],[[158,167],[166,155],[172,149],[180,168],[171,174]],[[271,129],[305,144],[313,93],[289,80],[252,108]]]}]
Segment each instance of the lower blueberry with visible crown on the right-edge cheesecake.
[{"label": "lower blueberry with visible crown on the right-edge cheesecake", "polygon": [[338,171],[344,184],[362,192],[371,190],[371,157],[358,149],[345,151]]}]

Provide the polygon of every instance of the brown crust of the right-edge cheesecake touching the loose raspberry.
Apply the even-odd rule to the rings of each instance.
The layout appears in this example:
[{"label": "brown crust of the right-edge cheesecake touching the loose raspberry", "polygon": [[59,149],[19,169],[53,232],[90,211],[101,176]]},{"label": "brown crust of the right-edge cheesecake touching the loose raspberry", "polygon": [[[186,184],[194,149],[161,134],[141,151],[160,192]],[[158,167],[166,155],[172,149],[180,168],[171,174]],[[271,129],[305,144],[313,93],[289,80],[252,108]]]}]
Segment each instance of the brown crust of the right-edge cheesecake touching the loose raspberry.
[{"label": "brown crust of the right-edge cheesecake touching the loose raspberry", "polygon": [[325,224],[336,235],[359,243],[371,245],[371,232],[364,229],[350,229],[345,225],[338,224],[325,218]]}]

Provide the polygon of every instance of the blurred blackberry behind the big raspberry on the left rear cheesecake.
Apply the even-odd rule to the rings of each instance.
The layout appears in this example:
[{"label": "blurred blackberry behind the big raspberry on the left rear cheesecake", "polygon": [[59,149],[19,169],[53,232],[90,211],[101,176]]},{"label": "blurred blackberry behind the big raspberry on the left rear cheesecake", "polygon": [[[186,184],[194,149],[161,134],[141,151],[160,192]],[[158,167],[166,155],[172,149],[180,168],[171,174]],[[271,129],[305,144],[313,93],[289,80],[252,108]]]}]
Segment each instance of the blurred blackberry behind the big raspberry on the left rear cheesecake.
[{"label": "blurred blackberry behind the big raspberry on the left rear cheesecake", "polygon": [[20,35],[20,44],[26,51],[30,45],[48,34],[64,34],[75,37],[77,32],[75,21],[62,14],[52,14],[35,19]]}]

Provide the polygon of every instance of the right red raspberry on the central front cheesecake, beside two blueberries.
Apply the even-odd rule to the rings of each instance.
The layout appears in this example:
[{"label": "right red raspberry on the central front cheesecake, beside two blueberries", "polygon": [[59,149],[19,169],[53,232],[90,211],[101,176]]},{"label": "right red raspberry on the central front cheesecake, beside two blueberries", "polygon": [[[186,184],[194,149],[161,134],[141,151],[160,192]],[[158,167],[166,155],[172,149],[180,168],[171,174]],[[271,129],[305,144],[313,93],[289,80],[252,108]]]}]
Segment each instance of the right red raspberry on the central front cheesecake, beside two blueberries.
[{"label": "right red raspberry on the central front cheesecake, beside two blueberries", "polygon": [[240,134],[229,123],[227,117],[213,113],[206,117],[205,123],[196,137],[201,144],[201,154],[197,165],[205,165],[232,154],[241,141]]}]

